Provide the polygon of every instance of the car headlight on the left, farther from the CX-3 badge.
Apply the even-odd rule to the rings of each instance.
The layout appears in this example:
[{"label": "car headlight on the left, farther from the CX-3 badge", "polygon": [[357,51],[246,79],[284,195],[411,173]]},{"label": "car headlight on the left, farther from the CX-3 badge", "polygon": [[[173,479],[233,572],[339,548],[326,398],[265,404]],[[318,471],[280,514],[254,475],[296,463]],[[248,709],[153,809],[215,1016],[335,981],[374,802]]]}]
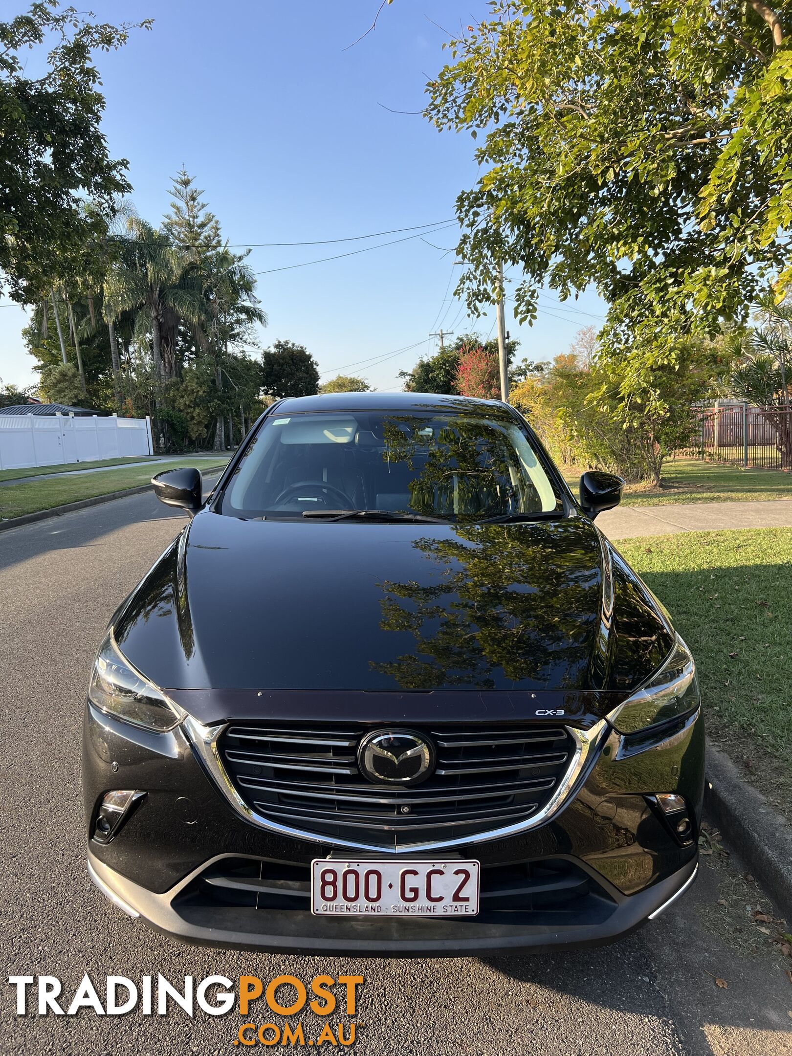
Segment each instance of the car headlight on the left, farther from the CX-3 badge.
[{"label": "car headlight on the left, farther from the CX-3 badge", "polygon": [[88,696],[102,712],[149,730],[172,730],[184,716],[177,704],[124,658],[112,630],[96,654]]}]

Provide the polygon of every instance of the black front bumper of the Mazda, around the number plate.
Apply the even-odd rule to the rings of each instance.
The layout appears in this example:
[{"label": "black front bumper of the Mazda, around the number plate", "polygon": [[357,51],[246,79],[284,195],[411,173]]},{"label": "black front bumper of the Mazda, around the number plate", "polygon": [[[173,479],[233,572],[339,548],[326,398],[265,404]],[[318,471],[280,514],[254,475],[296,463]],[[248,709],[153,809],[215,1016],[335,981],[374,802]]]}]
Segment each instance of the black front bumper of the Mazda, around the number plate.
[{"label": "black front bumper of the Mazda, around the number plate", "polygon": [[[436,851],[438,859],[477,859],[483,875],[491,878],[492,908],[483,904],[468,920],[323,918],[312,916],[297,898],[216,898],[215,874],[224,871],[218,863],[243,871],[246,862],[257,863],[253,873],[262,876],[266,864],[276,863],[300,878],[307,875],[312,859],[338,851],[319,840],[266,831],[241,816],[181,728],[150,733],[89,704],[82,772],[91,874],[116,905],[161,931],[202,944],[306,955],[516,954],[610,942],[692,882],[704,731],[698,714],[654,740],[629,740],[611,731],[582,787],[547,824],[506,838],[472,841],[450,853]],[[105,792],[121,788],[146,796],[110,843],[96,843],[91,834],[97,805]],[[685,797],[694,827],[687,842],[664,824],[652,798],[657,792]],[[563,898],[536,894],[534,873],[546,867],[563,878]],[[509,870],[534,876],[523,902],[498,901],[501,878]]]}]

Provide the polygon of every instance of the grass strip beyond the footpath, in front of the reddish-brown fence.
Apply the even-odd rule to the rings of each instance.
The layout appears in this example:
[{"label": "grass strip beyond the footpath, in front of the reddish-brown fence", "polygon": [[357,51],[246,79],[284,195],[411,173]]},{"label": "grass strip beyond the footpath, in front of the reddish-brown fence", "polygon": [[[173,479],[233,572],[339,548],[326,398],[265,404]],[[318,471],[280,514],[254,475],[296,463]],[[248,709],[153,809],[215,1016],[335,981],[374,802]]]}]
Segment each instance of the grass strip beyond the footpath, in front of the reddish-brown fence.
[{"label": "grass strip beyond the footpath, in front of the reddish-brown fence", "polygon": [[[564,476],[578,494],[580,472]],[[668,459],[663,466],[662,487],[627,485],[624,506],[664,506],[671,503],[734,503],[792,498],[792,473],[775,469],[740,469],[698,458]]]}]

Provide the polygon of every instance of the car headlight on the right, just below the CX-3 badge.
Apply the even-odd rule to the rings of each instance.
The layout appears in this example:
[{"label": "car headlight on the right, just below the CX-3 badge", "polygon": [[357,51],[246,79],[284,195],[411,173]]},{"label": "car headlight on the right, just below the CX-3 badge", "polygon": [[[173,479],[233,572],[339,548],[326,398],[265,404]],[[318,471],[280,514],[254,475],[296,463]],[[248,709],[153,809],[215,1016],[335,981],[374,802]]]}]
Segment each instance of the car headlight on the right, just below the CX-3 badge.
[{"label": "car headlight on the right, just below the CX-3 badge", "polygon": [[677,635],[674,648],[662,667],[608,715],[619,733],[634,733],[665,719],[686,715],[699,706],[696,664]]}]

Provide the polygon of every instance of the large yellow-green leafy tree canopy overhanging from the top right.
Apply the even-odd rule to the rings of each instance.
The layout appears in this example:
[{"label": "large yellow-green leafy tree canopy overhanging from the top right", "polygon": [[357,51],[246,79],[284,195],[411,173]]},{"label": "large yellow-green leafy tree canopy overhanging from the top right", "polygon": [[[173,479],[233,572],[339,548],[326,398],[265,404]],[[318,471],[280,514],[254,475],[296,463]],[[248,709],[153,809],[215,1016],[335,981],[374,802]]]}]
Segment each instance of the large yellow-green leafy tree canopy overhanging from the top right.
[{"label": "large yellow-green leafy tree canopy overhanging from the top right", "polygon": [[601,345],[641,398],[687,333],[741,319],[792,283],[792,4],[492,0],[450,44],[428,117],[485,135],[457,200],[471,310],[516,265],[521,320],[543,285],[593,284]]}]

